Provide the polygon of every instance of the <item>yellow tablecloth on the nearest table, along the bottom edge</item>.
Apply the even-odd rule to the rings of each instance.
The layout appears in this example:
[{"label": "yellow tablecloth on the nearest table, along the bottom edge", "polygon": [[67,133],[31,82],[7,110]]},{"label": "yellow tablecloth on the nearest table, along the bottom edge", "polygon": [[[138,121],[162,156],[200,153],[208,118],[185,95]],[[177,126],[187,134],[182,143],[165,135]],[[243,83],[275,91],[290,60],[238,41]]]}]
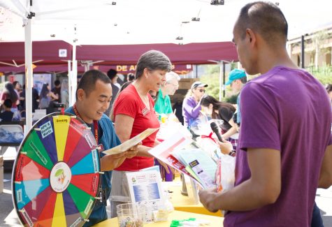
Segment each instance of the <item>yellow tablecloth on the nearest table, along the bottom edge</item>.
[{"label": "yellow tablecloth on the nearest table, along the bottom edge", "polygon": [[[189,212],[182,212],[182,211],[173,211],[168,215],[168,221],[161,221],[152,224],[145,224],[144,227],[169,227],[171,225],[172,220],[179,220],[179,219],[189,219],[189,218],[196,218],[196,219],[204,219],[210,221],[209,227],[220,227],[223,226],[222,222],[224,218],[222,217],[215,217],[210,215],[204,214],[194,214]],[[99,224],[94,225],[95,227],[102,227],[102,226],[118,226],[117,218],[107,219],[106,221],[102,221]]]}]

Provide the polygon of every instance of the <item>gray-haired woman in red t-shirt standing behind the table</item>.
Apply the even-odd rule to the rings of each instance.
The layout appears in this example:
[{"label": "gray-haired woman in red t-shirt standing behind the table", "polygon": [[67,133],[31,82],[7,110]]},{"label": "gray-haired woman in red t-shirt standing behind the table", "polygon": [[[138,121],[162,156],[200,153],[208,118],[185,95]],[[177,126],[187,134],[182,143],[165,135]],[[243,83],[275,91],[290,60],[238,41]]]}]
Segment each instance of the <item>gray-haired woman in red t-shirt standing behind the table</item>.
[{"label": "gray-haired woman in red t-shirt standing behind the table", "polygon": [[[115,122],[115,133],[121,142],[133,138],[145,129],[159,128],[149,91],[159,90],[171,68],[168,57],[157,50],[150,50],[140,56],[136,67],[136,80],[119,94],[113,105],[111,119]],[[131,201],[125,173],[154,165],[154,159],[148,151],[156,145],[156,135],[157,131],[145,138],[142,145],[138,146],[137,156],[124,160],[120,167],[113,170],[110,196],[112,217],[117,216],[117,205]]]}]

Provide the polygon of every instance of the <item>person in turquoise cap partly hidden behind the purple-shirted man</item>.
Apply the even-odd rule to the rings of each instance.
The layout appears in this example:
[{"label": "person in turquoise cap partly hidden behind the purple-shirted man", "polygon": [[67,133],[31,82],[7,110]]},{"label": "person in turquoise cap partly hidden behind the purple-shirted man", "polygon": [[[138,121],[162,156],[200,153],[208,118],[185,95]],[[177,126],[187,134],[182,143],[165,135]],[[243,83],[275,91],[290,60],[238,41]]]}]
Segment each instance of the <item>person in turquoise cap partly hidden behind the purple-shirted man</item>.
[{"label": "person in turquoise cap partly hidden behind the purple-shirted man", "polygon": [[224,138],[225,140],[228,140],[229,138],[231,138],[231,136],[238,133],[238,126],[240,125],[240,117],[241,117],[240,91],[246,82],[247,82],[247,75],[245,74],[245,71],[236,68],[229,73],[229,81],[226,82],[225,85],[231,85],[231,89],[236,93],[238,93],[238,98],[236,101],[237,104],[236,115],[229,120],[229,124],[231,124],[231,129],[229,129],[228,131],[226,131],[226,133],[222,135],[222,138]]}]

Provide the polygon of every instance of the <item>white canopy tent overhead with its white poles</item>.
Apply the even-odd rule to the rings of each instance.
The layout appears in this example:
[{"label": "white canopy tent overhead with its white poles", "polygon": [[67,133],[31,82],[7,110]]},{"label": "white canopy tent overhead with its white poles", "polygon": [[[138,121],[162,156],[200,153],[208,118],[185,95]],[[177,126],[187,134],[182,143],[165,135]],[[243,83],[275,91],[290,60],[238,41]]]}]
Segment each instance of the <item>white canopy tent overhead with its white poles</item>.
[{"label": "white canopy tent overhead with its white poles", "polygon": [[[231,41],[233,23],[247,2],[225,0],[223,6],[212,6],[209,0],[0,0],[0,41],[26,42],[27,131],[31,128],[31,41],[71,43],[73,82],[76,45]],[[332,22],[331,1],[278,3],[289,22],[290,38]],[[73,96],[75,82],[71,88]]]}]

